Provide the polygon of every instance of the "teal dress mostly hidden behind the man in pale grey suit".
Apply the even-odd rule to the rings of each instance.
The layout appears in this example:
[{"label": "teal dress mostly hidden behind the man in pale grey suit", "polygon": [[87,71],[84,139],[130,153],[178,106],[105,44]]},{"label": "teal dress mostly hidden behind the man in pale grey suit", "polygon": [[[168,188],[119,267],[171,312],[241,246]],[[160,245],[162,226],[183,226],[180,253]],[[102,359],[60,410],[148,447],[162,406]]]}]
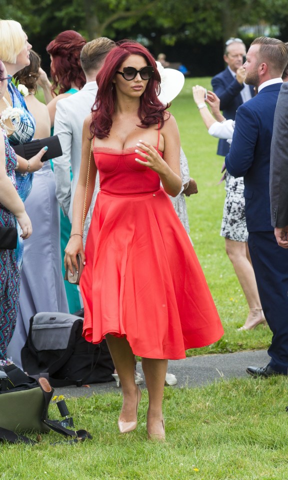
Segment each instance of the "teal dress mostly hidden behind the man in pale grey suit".
[{"label": "teal dress mostly hidden behind the man in pale grey suit", "polygon": [[[70,88],[68,91],[65,93],[76,93],[78,90],[75,88]],[[51,135],[53,135],[53,127],[51,128]],[[53,169],[53,161],[50,160],[51,162],[51,167]],[[71,172],[71,180],[72,180],[72,172]],[[65,247],[68,243],[69,236],[71,232],[71,223],[69,221],[69,218],[67,216],[64,216],[62,210],[60,209],[60,249],[61,249],[61,259],[62,259],[62,273],[64,275],[65,273],[65,268],[64,268],[64,250]],[[65,289],[66,289],[66,295],[67,295],[67,300],[68,300],[68,306],[69,306],[69,312],[74,313],[75,311],[79,310],[81,308],[80,304],[80,296],[79,296],[79,290],[77,288],[77,285],[72,285],[68,281],[65,281]]]}]

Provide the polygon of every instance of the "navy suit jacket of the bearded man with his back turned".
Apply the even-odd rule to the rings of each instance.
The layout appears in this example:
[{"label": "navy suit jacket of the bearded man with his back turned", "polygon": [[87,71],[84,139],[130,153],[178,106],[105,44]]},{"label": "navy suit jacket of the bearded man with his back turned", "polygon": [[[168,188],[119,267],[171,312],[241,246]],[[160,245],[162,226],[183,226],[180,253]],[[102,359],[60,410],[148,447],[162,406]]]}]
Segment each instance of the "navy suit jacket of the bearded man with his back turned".
[{"label": "navy suit jacket of the bearded man with his back turned", "polygon": [[244,177],[245,216],[248,231],[273,230],[270,217],[269,169],[274,112],[281,83],[265,86],[239,106],[228,172]]}]

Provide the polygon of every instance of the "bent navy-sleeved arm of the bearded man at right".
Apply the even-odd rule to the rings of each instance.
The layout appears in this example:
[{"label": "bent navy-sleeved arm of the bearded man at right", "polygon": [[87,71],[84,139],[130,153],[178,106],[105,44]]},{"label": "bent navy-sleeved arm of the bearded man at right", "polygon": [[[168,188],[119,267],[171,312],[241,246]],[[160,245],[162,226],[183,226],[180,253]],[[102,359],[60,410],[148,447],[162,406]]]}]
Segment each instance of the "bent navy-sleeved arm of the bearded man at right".
[{"label": "bent navy-sleeved arm of the bearded man at right", "polygon": [[253,163],[257,138],[257,118],[243,103],[236,112],[232,143],[225,157],[225,165],[231,175],[238,177],[247,173]]}]

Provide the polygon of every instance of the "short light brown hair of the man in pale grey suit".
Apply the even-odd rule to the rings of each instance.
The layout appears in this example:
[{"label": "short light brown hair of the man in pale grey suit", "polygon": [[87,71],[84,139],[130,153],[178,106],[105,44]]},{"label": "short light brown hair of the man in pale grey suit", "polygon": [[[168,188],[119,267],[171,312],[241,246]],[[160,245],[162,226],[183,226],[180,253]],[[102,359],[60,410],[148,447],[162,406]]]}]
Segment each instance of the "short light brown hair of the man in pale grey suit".
[{"label": "short light brown hair of the man in pale grey suit", "polygon": [[81,66],[85,73],[98,70],[104,61],[106,54],[116,46],[116,43],[104,36],[88,41],[80,53]]}]

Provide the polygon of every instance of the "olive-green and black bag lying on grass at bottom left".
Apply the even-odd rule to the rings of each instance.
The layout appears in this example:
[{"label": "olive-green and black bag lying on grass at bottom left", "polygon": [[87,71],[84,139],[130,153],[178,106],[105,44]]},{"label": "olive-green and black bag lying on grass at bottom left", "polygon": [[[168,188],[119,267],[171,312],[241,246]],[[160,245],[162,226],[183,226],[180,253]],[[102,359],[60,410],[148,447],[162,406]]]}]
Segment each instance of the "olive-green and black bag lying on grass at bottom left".
[{"label": "olive-green and black bag lying on grass at bottom left", "polygon": [[[35,440],[21,433],[48,432],[51,429],[72,437],[72,442],[91,438],[86,430],[70,430],[63,425],[67,424],[63,420],[48,418],[53,392],[45,376],[28,376],[14,364],[0,367],[0,440],[34,444],[37,443]],[[73,426],[72,418],[69,420],[69,426]]]}]

